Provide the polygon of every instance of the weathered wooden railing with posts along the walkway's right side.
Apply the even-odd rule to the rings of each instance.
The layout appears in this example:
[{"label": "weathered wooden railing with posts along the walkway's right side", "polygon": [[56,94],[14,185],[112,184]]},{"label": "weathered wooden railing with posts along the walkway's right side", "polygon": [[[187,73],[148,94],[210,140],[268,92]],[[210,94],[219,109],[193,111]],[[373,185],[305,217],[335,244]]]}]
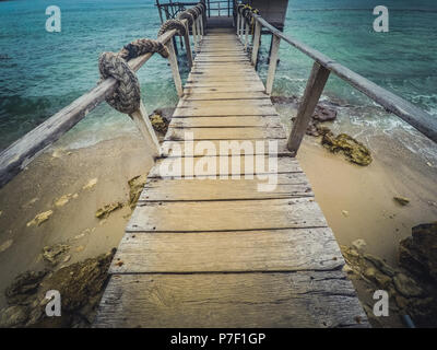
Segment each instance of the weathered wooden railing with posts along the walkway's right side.
[{"label": "weathered wooden railing with posts along the walkway's right side", "polygon": [[251,27],[249,21],[237,11],[237,36],[247,49],[249,46],[249,35],[252,35],[251,63],[256,66],[260,47],[261,31],[264,30],[272,34],[269,71],[265,82],[267,94],[270,95],[272,93],[281,40],[294,46],[314,60],[312,70],[297,112],[296,121],[293,125],[287,141],[287,148],[294,155],[296,155],[297,150],[299,149],[305,131],[331,72],[352,85],[352,88],[361,91],[385,107],[386,110],[395,114],[434,142],[437,142],[437,118],[421,108],[417,108],[400,96],[373,83],[366,78],[355,73],[349,68],[335,62],[333,59],[324,56],[318,50],[315,50],[292,37],[285,36],[284,33],[268,23],[261,15],[252,14],[252,16],[255,20],[255,28],[253,34],[250,34]]}]

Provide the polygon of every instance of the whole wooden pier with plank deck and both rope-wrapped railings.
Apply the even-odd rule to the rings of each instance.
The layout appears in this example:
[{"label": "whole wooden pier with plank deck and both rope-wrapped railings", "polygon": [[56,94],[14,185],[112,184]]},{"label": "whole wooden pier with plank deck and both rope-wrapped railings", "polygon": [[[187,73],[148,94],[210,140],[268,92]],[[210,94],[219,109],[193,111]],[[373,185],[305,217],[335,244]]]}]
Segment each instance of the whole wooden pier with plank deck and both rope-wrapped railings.
[{"label": "whole wooden pier with plank deck and both rope-wrapped railings", "polygon": [[[94,327],[369,326],[295,156],[330,74],[435,142],[437,121],[284,35],[256,9],[233,3],[233,16],[211,20],[220,27],[208,26],[208,33],[209,8],[201,1],[184,12],[177,9],[176,20],[167,16],[156,39],[104,52],[103,79],[95,88],[0,153],[1,187],[106,100],[129,114],[150,154],[156,155],[110,266]],[[264,84],[253,67],[265,33],[272,44]],[[185,86],[175,36],[184,42],[191,68]],[[288,137],[270,101],[281,43],[314,61]],[[135,78],[156,52],[168,58],[180,97],[161,145]],[[208,153],[211,150],[215,152]],[[263,167],[253,167],[258,163]],[[181,174],[163,171],[168,164],[179,164]],[[276,185],[261,190],[272,178]]]}]

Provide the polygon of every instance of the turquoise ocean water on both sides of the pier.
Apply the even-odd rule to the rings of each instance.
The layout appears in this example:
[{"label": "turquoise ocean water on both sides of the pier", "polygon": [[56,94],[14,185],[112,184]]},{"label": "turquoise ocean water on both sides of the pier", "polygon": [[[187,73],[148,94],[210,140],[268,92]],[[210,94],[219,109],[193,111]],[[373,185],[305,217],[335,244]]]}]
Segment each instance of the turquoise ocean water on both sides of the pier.
[{"label": "turquoise ocean water on both sides of the pier", "polygon": [[[437,1],[385,0],[390,31],[373,30],[374,0],[291,0],[285,33],[401,95],[437,117]],[[60,33],[45,30],[45,9],[61,9]],[[47,119],[98,81],[102,51],[139,37],[156,37],[152,0],[0,1],[0,150]],[[260,74],[265,77],[270,39],[262,42]],[[311,60],[283,43],[274,94],[300,96]],[[182,78],[188,70],[179,62]],[[138,72],[149,112],[175,106],[167,62],[153,57]],[[369,98],[331,77],[323,100],[341,104],[341,118],[390,136],[409,127]],[[131,132],[130,119],[102,104],[62,141],[83,147]],[[422,149],[423,147],[417,147]],[[430,150],[428,150],[430,152]]]}]

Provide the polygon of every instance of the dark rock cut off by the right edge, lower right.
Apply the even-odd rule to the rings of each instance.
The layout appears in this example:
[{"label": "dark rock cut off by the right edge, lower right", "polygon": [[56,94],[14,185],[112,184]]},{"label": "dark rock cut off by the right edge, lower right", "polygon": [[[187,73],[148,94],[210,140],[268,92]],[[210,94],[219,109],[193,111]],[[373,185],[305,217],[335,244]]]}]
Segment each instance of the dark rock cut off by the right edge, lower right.
[{"label": "dark rock cut off by the right edge, lower right", "polygon": [[414,226],[399,245],[399,264],[413,275],[437,282],[437,222]]}]

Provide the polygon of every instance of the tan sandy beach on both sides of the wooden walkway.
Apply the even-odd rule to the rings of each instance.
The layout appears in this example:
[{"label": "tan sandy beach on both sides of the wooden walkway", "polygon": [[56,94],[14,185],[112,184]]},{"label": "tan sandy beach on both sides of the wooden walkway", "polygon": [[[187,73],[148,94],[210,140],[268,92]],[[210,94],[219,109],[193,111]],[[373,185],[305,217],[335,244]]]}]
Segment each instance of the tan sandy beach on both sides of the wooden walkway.
[{"label": "tan sandy beach on both sides of the wooden walkway", "polygon": [[[277,109],[290,129],[295,110],[290,105]],[[335,122],[331,127],[347,131],[347,124]],[[366,252],[395,266],[399,241],[411,235],[412,226],[437,218],[437,164],[424,162],[395,138],[377,136],[365,142],[374,158],[368,166],[330,153],[312,137],[305,138],[297,158],[339,244],[350,246],[362,238]],[[128,180],[152,165],[140,135],[133,132],[82,149],[55,144],[4,186],[0,307],[5,306],[3,290],[16,275],[50,267],[42,257],[44,247],[69,245],[55,270],[117,247],[131,213]],[[410,203],[402,207],[394,196],[408,197]],[[125,206],[107,219],[95,217],[114,202]],[[40,225],[28,224],[50,210]]]}]

